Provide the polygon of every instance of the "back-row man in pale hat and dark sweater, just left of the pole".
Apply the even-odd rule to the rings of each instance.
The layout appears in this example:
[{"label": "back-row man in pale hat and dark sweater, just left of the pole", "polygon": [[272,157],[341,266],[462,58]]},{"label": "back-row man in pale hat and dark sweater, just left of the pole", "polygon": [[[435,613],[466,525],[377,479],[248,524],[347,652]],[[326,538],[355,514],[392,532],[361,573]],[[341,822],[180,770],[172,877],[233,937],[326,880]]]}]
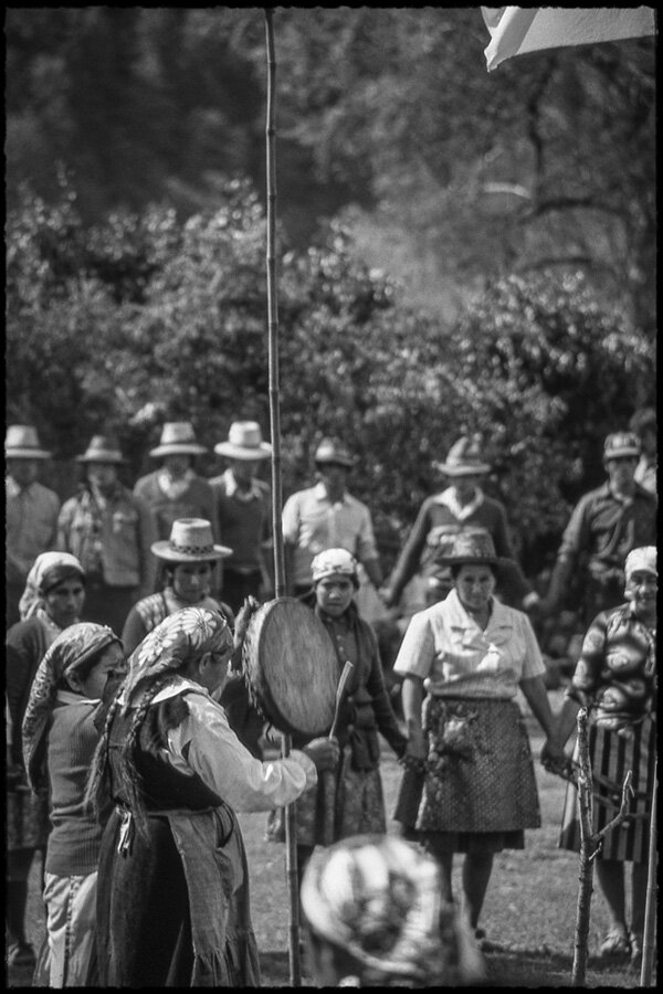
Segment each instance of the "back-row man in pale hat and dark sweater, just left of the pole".
[{"label": "back-row man in pale hat and dark sweater, just left of the pole", "polygon": [[263,442],[255,421],[234,421],[225,442],[214,452],[228,462],[221,476],[210,479],[217,499],[219,533],[232,548],[223,563],[223,596],[236,613],[244,599],[269,600],[271,574],[271,487],[259,479],[260,466],[272,446]]}]

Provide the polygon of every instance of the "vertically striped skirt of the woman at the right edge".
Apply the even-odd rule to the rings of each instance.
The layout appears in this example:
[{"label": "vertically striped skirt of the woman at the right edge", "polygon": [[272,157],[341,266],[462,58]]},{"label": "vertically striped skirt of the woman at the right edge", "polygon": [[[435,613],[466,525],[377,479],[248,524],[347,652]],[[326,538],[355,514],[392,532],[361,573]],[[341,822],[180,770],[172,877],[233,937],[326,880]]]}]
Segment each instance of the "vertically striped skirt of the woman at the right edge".
[{"label": "vertically striped skirt of the woman at the right edge", "polygon": [[[621,789],[628,770],[632,771],[634,796],[629,803],[625,819],[608,832],[598,859],[646,863],[649,856],[650,812],[654,792],[656,726],[651,718],[633,726],[632,736],[624,737],[600,726],[589,726],[589,757],[593,778],[592,826],[600,832],[619,811]],[[578,743],[573,750],[578,759]],[[578,791],[567,786],[559,847],[580,852]]]}]

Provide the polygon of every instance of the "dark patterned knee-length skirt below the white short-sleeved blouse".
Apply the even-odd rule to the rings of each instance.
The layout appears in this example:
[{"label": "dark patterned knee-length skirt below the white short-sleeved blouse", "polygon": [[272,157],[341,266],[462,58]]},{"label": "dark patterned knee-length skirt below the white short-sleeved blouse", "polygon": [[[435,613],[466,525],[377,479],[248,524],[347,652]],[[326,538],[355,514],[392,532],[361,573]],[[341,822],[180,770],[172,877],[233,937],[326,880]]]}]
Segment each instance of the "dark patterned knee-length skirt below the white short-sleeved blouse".
[{"label": "dark patterned knee-length skirt below the white short-sleeved blouse", "polygon": [[[540,826],[529,737],[512,700],[428,697],[425,771],[403,773],[394,818],[421,833],[503,836],[519,847],[525,828]],[[511,835],[511,840],[509,840]],[[499,848],[497,845],[496,849]]]}]

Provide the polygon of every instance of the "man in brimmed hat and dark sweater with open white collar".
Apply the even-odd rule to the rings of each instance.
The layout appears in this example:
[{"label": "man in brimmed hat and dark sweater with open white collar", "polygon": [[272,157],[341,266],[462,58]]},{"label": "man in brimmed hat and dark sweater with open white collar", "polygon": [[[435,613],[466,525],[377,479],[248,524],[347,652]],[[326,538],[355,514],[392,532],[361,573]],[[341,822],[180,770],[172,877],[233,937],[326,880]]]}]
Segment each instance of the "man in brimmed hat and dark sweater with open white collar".
[{"label": "man in brimmed hat and dark sweater with open white collar", "polygon": [[433,466],[450,478],[451,486],[427,497],[421,505],[383,591],[385,602],[389,606],[398,604],[407,584],[419,571],[427,584],[427,603],[440,600],[440,585],[446,583],[446,590],[442,590],[444,595],[452,586],[444,554],[453,536],[483,531],[491,536],[497,556],[511,563],[502,572],[501,598],[512,607],[533,610],[539,598],[516,561],[504,505],[487,497],[480,486],[491,467],[481,456],[477,438],[459,438],[449,451],[446,462]]}]

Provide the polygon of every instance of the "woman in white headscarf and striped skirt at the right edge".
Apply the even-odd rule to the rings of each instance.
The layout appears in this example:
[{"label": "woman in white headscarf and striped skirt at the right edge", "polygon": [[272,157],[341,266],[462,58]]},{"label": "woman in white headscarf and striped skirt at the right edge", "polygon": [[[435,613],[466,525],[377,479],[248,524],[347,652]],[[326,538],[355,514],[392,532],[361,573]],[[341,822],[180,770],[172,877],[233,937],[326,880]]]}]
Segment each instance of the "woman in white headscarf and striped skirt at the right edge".
[{"label": "woman in white headscarf and striped skirt at the right edge", "polygon": [[[580,658],[558,717],[558,745],[564,747],[581,707],[588,709],[589,759],[596,799],[593,832],[617,814],[628,770],[633,794],[627,818],[609,832],[594,861],[598,885],[610,920],[599,958],[629,959],[639,966],[646,897],[650,817],[656,758],[656,601],[655,546],[629,552],[625,603],[602,611],[585,636]],[[578,744],[573,759],[578,759]],[[578,792],[569,783],[559,845],[579,852]],[[631,864],[631,927],[627,923],[625,864]]]}]

